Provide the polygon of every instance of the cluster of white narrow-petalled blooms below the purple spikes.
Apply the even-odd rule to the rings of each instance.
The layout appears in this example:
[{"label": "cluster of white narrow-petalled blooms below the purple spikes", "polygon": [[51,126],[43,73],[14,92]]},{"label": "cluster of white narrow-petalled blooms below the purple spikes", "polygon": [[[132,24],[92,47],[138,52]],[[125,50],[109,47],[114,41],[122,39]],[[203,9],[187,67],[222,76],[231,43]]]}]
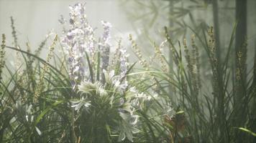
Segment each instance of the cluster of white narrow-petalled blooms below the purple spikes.
[{"label": "cluster of white narrow-petalled blooms below the purple spikes", "polygon": [[[105,83],[101,82],[81,82],[78,86],[78,91],[83,93],[81,102],[76,102],[73,107],[80,110],[81,107],[86,110],[88,114],[95,112],[96,108],[104,107],[105,113],[111,113],[110,119],[107,122],[115,122],[112,127],[119,132],[119,141],[126,137],[132,141],[132,134],[139,132],[136,128],[139,116],[134,114],[136,106],[140,106],[142,94],[132,87],[129,88],[127,81],[122,81],[120,75],[114,75],[114,70],[104,71]],[[101,119],[104,120],[104,119]]]}]

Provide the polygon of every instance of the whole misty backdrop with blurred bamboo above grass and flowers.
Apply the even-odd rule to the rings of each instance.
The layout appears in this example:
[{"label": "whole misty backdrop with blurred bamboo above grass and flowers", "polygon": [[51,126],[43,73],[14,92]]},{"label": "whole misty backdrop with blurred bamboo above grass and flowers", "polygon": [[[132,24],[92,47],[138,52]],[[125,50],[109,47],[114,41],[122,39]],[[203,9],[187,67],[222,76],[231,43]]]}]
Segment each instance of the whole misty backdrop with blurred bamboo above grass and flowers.
[{"label": "whole misty backdrop with blurred bamboo above grass and flowers", "polygon": [[[128,35],[132,34],[148,55],[153,48],[147,47],[152,46],[153,41],[160,44],[164,40],[164,26],[170,29],[173,41],[189,40],[195,31],[214,26],[216,41],[224,51],[236,23],[234,0],[0,0],[0,33],[6,34],[7,44],[12,45],[10,16],[13,16],[20,46],[29,41],[32,48],[37,47],[52,29],[61,34],[58,19],[60,15],[68,19],[68,6],[77,2],[87,3],[86,14],[90,24],[97,28],[96,33],[101,34],[101,20],[109,21],[113,26],[113,44],[121,37],[123,44],[129,45]],[[244,12],[247,15],[248,61],[254,53],[250,50],[255,49],[255,7],[255,0],[247,0]]]}]

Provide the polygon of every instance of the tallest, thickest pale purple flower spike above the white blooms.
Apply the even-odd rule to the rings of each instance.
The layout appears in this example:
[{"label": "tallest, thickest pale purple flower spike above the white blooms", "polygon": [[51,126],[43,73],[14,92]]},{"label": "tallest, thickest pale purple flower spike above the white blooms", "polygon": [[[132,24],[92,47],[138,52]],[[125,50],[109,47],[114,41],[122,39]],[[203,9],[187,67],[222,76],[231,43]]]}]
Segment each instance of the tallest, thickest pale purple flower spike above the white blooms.
[{"label": "tallest, thickest pale purple flower spike above the white blooms", "polygon": [[[86,52],[91,56],[96,52],[96,41],[93,28],[88,24],[85,14],[85,4],[75,4],[70,8],[70,29],[63,31],[63,45],[65,54],[68,55],[69,75],[73,88],[88,76],[86,67]],[[62,19],[61,23],[65,20]]]}]

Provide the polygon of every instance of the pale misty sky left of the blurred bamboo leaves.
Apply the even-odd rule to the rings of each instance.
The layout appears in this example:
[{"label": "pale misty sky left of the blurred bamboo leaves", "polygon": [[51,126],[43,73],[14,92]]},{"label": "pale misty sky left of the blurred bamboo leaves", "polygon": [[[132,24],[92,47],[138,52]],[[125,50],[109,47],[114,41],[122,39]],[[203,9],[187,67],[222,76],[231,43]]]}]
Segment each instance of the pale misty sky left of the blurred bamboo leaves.
[{"label": "pale misty sky left of the blurred bamboo leaves", "polygon": [[[37,46],[51,29],[60,33],[58,23],[60,15],[68,19],[69,5],[76,4],[74,0],[0,0],[0,34],[6,34],[7,44],[12,43],[10,16],[14,17],[18,31],[19,43],[23,45],[29,40],[32,46]],[[109,21],[113,28],[111,35],[128,36],[132,27],[116,0],[86,0],[86,14],[96,32],[101,32],[101,20]]]}]

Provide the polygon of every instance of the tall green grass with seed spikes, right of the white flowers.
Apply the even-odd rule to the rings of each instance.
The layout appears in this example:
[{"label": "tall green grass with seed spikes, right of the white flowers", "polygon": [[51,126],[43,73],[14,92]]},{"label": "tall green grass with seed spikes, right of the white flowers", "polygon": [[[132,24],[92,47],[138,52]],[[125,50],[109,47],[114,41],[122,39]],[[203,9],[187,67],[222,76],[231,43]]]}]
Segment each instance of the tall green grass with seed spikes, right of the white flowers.
[{"label": "tall green grass with seed spikes, right of the white flowers", "polygon": [[[191,44],[184,39],[183,44],[178,42],[178,47],[173,44],[169,32],[165,27],[165,41],[159,46],[154,44],[155,59],[152,61],[157,64],[150,69],[145,68],[149,71],[148,76],[154,79],[154,82],[145,81],[145,84],[149,87],[155,84],[155,91],[162,100],[170,101],[174,109],[183,111],[182,115],[175,114],[174,117],[159,116],[163,119],[164,126],[171,126],[166,130],[162,129],[170,134],[166,140],[255,142],[255,125],[252,125],[252,122],[255,122],[255,66],[247,70],[247,41],[244,41],[240,51],[234,53],[233,32],[227,52],[222,53],[224,60],[218,61],[217,56],[223,55],[216,53],[213,27],[209,28],[207,33],[204,30],[203,33],[194,31]],[[201,46],[197,46],[196,43]],[[166,49],[173,54],[173,66],[168,63]],[[204,54],[207,55],[207,59],[201,58]],[[143,58],[140,54],[137,56],[139,60]],[[201,60],[207,60],[208,64],[201,66]],[[142,66],[145,64],[146,61]],[[211,71],[206,77],[202,73],[205,69]],[[145,122],[151,123],[148,129],[152,127],[152,130],[156,131],[155,126],[158,123],[147,121],[147,118],[145,117]],[[175,129],[178,127],[179,129]],[[155,132],[147,135],[150,136],[152,133]],[[160,132],[157,136],[164,138]],[[147,140],[151,141],[152,139]]]}]

